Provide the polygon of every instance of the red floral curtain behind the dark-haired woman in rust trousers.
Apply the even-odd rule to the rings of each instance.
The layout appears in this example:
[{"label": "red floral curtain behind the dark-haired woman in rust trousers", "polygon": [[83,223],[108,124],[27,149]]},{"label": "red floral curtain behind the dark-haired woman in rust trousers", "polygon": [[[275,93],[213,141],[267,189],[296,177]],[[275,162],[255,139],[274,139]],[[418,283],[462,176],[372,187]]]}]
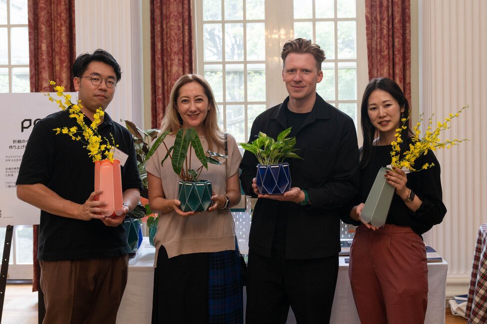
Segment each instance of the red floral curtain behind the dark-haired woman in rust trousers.
[{"label": "red floral curtain behind the dark-haired woman in rust trousers", "polygon": [[369,80],[388,77],[411,102],[411,1],[365,0]]}]

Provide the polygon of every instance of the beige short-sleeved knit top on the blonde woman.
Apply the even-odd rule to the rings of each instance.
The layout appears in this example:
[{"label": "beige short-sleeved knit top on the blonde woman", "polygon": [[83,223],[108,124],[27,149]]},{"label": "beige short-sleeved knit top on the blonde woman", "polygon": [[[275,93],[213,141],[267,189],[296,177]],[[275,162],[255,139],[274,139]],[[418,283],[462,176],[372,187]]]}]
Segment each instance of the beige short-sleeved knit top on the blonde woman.
[{"label": "beige short-sleeved knit top on the blonde woman", "polygon": [[[174,135],[168,135],[164,142],[170,148],[174,144]],[[203,148],[208,150],[208,141],[205,136],[200,136]],[[217,150],[216,145],[212,149]],[[223,149],[218,152],[224,154]],[[167,149],[161,144],[154,155],[147,161],[146,170],[152,175],[161,179],[164,195],[166,199],[178,198],[179,177],[173,171],[171,159],[161,161],[166,156]],[[240,154],[237,142],[232,135],[228,135],[228,156],[229,158],[222,165],[208,164],[208,170],[203,168],[200,180],[210,180],[212,189],[216,195],[225,195],[225,163],[228,163],[228,177],[239,172]],[[222,161],[222,159],[221,159]],[[192,150],[191,168],[196,170],[201,166],[201,162]],[[228,209],[216,210],[211,213],[201,213],[193,216],[179,216],[175,211],[167,214],[160,214],[157,224],[157,233],[154,237],[156,247],[156,266],[157,253],[161,245],[167,250],[170,258],[189,253],[199,252],[219,252],[235,250],[235,224],[232,214]]]}]

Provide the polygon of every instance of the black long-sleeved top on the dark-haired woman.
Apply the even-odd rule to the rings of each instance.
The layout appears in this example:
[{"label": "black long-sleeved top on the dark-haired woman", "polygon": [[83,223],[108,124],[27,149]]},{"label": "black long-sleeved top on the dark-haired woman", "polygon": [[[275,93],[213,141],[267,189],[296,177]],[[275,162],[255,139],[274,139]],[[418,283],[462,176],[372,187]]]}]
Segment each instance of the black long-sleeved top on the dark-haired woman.
[{"label": "black long-sleeved top on the dark-haired woman", "polygon": [[[365,203],[367,200],[367,196],[379,169],[391,164],[391,150],[391,145],[372,147],[371,161],[360,170],[359,195],[356,200],[356,205]],[[420,208],[413,213],[401,197],[394,193],[386,224],[411,226],[415,233],[421,235],[433,227],[433,225],[442,222],[447,209],[442,201],[440,163],[432,151],[428,151],[426,155],[420,156],[415,161],[414,167],[415,169],[420,169],[425,163],[434,163],[435,166],[407,174],[408,182],[406,187],[413,190],[422,200],[423,203]]]}]

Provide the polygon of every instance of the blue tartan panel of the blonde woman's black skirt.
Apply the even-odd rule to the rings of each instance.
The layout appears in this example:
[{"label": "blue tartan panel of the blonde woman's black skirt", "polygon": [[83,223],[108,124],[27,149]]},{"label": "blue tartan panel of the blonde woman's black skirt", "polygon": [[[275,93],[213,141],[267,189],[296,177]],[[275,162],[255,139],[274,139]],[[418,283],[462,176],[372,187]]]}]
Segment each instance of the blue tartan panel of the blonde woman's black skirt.
[{"label": "blue tartan panel of the blonde woman's black skirt", "polygon": [[238,247],[208,254],[209,322],[243,323],[243,278]]}]

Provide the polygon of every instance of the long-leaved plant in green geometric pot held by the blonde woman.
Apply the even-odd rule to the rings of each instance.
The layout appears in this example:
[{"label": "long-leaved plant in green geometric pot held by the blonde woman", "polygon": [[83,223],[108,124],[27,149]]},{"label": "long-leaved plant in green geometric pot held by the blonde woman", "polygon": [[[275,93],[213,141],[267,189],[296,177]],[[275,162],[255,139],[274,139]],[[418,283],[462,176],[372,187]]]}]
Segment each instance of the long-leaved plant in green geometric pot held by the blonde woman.
[{"label": "long-leaved plant in green geometric pot held by the blonde woman", "polygon": [[[159,139],[159,138],[158,138]],[[202,163],[198,169],[191,169],[191,152]],[[189,154],[188,154],[189,153]],[[208,156],[206,155],[208,154]],[[180,128],[176,132],[174,145],[171,146],[161,165],[170,157],[174,172],[181,179],[179,182],[178,200],[181,202],[181,209],[184,212],[204,212],[212,205],[212,183],[208,180],[200,180],[200,174],[203,167],[208,169],[208,163],[222,164],[213,157],[227,158],[226,155],[204,151],[201,145],[200,137],[194,128]]]}]

